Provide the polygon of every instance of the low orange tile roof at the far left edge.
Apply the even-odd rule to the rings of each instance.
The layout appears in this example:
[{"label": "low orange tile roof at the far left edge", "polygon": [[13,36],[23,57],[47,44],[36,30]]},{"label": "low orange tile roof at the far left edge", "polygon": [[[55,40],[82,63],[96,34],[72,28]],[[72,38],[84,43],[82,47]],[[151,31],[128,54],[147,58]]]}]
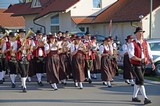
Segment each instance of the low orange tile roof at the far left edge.
[{"label": "low orange tile roof at the far left edge", "polygon": [[23,17],[13,17],[12,13],[4,13],[6,9],[0,9],[0,26],[2,27],[24,27]]}]

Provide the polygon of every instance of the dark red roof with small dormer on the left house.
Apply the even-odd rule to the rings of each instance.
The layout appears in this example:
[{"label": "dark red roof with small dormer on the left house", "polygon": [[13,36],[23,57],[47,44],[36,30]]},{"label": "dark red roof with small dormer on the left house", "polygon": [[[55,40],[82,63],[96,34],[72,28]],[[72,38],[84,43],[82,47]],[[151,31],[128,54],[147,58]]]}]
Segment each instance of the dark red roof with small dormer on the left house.
[{"label": "dark red roof with small dormer on the left house", "polygon": [[42,7],[31,8],[30,3],[15,4],[6,12],[14,13],[14,16],[38,14],[36,18],[47,15],[51,12],[62,12],[76,4],[80,0],[40,0]]}]

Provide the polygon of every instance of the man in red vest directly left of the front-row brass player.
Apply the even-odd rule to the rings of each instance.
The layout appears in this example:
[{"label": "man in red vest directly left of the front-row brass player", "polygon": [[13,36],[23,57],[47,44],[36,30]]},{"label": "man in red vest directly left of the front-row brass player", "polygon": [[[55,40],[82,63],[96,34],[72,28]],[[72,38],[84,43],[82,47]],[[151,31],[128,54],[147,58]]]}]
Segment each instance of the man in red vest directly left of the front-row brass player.
[{"label": "man in red vest directly left of the front-row brass player", "polygon": [[10,70],[10,78],[11,78],[11,83],[12,83],[12,88],[15,88],[15,78],[17,76],[17,62],[16,62],[16,56],[15,53],[13,52],[14,48],[14,38],[15,38],[15,33],[10,32],[9,33],[9,40],[6,41],[3,45],[2,52],[5,54],[6,60],[8,61],[8,67]]}]

